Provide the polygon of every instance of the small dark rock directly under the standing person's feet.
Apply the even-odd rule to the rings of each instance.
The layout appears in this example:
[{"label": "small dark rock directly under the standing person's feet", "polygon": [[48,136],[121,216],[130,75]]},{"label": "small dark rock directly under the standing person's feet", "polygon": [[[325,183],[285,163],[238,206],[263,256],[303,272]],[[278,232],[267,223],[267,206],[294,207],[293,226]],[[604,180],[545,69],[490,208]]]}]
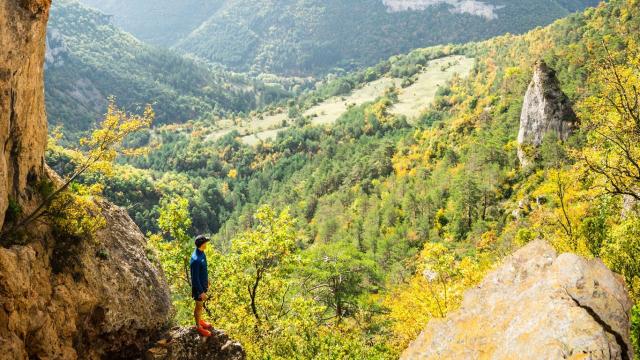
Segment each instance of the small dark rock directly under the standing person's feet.
[{"label": "small dark rock directly under the standing person's feet", "polygon": [[178,327],[154,347],[147,350],[145,360],[244,360],[242,346],[229,339],[222,331],[213,330],[208,338],[201,337],[193,328]]}]

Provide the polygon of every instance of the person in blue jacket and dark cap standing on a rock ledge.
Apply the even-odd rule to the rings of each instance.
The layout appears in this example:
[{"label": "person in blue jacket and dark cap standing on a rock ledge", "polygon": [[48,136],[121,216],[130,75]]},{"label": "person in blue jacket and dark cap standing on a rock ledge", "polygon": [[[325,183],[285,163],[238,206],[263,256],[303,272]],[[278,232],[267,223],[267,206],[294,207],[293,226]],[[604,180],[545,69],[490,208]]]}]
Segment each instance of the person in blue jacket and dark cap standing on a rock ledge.
[{"label": "person in blue jacket and dark cap standing on a rock ledge", "polygon": [[189,267],[191,268],[191,296],[196,301],[193,316],[196,319],[196,330],[202,336],[211,336],[211,324],[202,319],[204,301],[207,300],[209,289],[209,274],[207,273],[207,256],[204,249],[209,238],[204,235],[196,236],[196,249],[191,254]]}]

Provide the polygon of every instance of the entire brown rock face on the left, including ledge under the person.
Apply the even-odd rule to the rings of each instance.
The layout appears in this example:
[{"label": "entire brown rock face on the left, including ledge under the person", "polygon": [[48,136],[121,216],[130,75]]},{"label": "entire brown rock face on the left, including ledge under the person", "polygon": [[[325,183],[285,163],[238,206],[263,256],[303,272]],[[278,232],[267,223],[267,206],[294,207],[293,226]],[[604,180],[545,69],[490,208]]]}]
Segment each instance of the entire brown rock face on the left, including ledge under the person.
[{"label": "entire brown rock face on the left, including ledge under the person", "polygon": [[[44,165],[49,6],[0,3],[0,229],[9,204],[29,211],[42,201],[41,179],[61,186]],[[64,54],[57,40],[49,41],[51,65]],[[27,229],[26,244],[0,241],[1,359],[140,359],[165,333],[169,289],[153,252],[126,211],[96,201],[106,226],[90,239],[37,224]],[[239,344],[214,334],[205,340],[190,329],[171,332],[158,343],[158,359],[244,359]]]}]

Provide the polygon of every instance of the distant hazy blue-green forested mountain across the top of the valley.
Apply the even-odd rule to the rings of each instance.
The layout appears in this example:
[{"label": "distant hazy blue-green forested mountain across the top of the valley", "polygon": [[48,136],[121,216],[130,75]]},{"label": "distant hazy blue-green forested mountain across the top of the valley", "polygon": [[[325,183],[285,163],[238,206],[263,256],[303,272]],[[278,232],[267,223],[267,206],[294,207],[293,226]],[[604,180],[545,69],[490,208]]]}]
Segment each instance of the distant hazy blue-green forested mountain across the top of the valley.
[{"label": "distant hazy blue-green forested mountain across the top of the valley", "polygon": [[[370,66],[417,47],[522,33],[598,3],[225,0],[178,5],[167,1],[84,1],[113,14],[118,24],[143,40],[173,46],[235,70],[289,75]],[[198,15],[182,16],[190,11],[187,9],[198,10]],[[173,26],[176,22],[177,27]],[[187,28],[191,29],[189,34]],[[177,38],[176,34],[184,36]]]}]

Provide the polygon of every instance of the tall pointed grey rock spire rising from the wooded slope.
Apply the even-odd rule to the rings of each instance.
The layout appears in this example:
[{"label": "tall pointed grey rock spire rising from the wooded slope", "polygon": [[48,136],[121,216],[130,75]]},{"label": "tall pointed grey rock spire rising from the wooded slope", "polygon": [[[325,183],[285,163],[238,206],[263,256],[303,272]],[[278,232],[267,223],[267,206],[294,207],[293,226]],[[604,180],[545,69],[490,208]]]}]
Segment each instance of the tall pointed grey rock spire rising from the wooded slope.
[{"label": "tall pointed grey rock spire rising from the wooded slope", "polygon": [[522,104],[518,159],[525,167],[535,160],[535,149],[545,136],[555,135],[565,141],[575,131],[578,118],[569,98],[562,92],[555,71],[538,61]]}]

